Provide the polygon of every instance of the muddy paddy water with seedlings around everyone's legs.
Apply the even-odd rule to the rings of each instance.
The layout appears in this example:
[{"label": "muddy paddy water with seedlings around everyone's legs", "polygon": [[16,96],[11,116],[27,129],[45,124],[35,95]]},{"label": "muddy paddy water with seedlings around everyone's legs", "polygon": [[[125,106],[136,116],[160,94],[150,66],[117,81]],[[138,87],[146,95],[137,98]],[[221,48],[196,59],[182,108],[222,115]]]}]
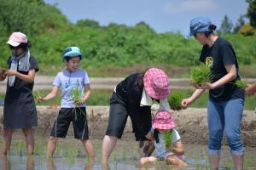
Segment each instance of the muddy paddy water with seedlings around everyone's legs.
[{"label": "muddy paddy water with seedlings around everyone's legs", "polygon": [[[92,139],[96,148],[96,160],[90,163],[79,141],[74,139],[60,139],[53,159],[45,158],[46,139],[37,139],[38,145],[34,156],[26,156],[26,148],[19,137],[11,145],[8,156],[0,159],[0,169],[3,170],[33,170],[33,169],[173,169],[166,166],[164,161],[141,167],[138,164],[137,143],[131,139],[119,140],[117,147],[110,157],[108,165],[101,164],[102,140]],[[207,169],[207,146],[198,144],[185,144],[187,169]],[[232,169],[229,147],[223,146],[221,169]],[[256,169],[256,148],[247,147],[245,157],[246,169]]]}]

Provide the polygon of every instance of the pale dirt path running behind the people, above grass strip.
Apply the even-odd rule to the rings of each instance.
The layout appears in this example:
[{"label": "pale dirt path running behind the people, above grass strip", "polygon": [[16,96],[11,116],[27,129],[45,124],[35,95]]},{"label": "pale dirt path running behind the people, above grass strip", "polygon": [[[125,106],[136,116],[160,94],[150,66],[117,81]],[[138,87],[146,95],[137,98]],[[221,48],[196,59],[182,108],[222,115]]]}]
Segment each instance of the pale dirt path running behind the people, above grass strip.
[{"label": "pale dirt path running behind the people, above grass strip", "polygon": [[[55,77],[48,76],[37,76],[35,79],[34,89],[49,89],[52,87],[52,82]],[[113,89],[120,81],[122,81],[123,77],[91,77],[90,85],[91,88],[94,89]],[[248,83],[256,82],[256,79],[243,79]],[[5,92],[6,89],[6,80],[4,82],[0,82],[0,93]],[[191,89],[192,87],[189,85],[190,80],[187,78],[171,78],[171,88],[177,89]]]}]

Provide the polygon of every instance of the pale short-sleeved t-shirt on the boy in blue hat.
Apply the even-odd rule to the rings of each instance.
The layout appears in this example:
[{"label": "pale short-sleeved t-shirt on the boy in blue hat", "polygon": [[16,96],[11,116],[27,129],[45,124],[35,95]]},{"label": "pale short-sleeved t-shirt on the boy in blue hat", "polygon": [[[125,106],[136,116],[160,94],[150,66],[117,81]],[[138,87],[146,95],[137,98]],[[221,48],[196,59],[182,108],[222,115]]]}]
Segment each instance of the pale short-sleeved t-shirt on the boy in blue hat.
[{"label": "pale short-sleeved t-shirt on the boy in blue hat", "polygon": [[[80,98],[84,98],[84,85],[90,84],[88,74],[84,70],[76,71],[63,70],[57,74],[53,85],[61,88],[61,108],[75,108],[73,102],[73,90],[78,89]],[[85,104],[79,105],[85,107]]]}]

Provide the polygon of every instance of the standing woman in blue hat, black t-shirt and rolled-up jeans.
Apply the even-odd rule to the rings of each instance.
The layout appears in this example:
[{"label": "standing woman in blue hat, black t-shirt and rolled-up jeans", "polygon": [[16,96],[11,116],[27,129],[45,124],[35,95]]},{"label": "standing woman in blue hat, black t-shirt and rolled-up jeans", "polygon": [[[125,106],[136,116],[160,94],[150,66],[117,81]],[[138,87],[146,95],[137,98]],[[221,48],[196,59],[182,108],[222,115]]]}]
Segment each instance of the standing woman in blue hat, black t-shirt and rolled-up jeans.
[{"label": "standing woman in blue hat, black t-shirt and rolled-up jeans", "polygon": [[230,42],[214,33],[215,29],[216,26],[206,17],[197,17],[190,22],[189,37],[194,36],[203,46],[200,61],[211,68],[213,78],[201,87],[195,86],[195,93],[183,99],[182,105],[186,108],[205,90],[209,90],[207,119],[211,168],[218,169],[221,141],[225,133],[235,167],[242,169],[244,148],[240,127],[245,92],[234,83],[240,79],[236,53]]}]

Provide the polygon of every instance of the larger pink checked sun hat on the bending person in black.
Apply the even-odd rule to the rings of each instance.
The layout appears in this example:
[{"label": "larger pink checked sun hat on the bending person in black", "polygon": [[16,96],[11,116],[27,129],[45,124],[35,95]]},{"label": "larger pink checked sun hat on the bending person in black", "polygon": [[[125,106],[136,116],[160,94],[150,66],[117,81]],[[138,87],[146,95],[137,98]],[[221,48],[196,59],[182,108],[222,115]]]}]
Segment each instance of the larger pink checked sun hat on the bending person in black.
[{"label": "larger pink checked sun hat on the bending person in black", "polygon": [[169,77],[160,69],[148,69],[143,82],[146,92],[154,99],[166,99],[170,94]]}]

